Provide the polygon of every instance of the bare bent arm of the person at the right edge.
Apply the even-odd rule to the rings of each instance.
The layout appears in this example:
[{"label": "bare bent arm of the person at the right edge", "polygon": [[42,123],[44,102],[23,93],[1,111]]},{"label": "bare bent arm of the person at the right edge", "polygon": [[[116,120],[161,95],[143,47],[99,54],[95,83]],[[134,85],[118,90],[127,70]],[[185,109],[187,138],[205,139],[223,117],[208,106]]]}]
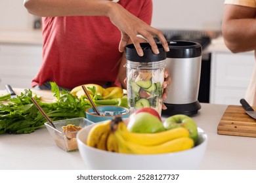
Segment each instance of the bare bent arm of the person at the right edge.
[{"label": "bare bent arm of the person at the right edge", "polygon": [[233,19],[223,24],[223,37],[232,52],[256,50],[256,20]]}]

